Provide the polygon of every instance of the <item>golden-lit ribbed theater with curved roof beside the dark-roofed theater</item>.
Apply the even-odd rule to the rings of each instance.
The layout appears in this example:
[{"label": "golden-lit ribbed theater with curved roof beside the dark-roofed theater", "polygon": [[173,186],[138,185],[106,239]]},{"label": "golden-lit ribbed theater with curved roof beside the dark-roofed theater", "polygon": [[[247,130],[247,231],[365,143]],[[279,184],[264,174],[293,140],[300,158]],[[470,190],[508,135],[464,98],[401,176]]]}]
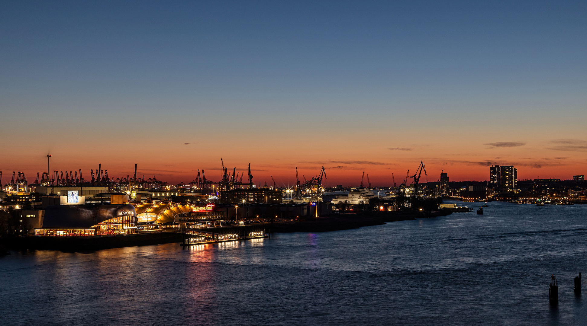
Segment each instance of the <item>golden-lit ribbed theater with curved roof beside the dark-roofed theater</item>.
[{"label": "golden-lit ribbed theater with curved roof beside the dark-roofed theater", "polygon": [[153,202],[136,203],[137,228],[141,231],[177,228],[181,223],[187,227],[221,226],[226,218],[226,209],[214,204],[197,206],[190,203]]}]

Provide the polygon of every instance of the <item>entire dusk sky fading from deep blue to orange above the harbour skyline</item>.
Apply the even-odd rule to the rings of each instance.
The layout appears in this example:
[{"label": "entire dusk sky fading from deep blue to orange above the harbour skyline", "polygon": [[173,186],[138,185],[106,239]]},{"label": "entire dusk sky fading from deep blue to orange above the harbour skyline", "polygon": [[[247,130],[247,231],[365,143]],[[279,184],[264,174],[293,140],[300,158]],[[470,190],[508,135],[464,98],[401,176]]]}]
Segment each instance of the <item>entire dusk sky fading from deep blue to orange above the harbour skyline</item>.
[{"label": "entire dusk sky fading from deep blue to orange above the harbour skyline", "polygon": [[[0,171],[587,174],[587,2],[3,1]],[[246,179],[246,176],[245,176]],[[303,181],[302,181],[303,182]]]}]

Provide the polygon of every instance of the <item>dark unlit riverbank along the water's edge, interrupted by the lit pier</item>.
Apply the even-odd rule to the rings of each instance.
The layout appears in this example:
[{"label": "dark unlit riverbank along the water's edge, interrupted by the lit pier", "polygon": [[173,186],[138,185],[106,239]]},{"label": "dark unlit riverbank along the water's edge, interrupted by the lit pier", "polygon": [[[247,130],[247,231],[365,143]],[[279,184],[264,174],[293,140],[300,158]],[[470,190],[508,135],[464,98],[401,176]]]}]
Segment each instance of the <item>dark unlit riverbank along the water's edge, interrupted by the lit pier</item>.
[{"label": "dark unlit riverbank along the water's edge, interrupted by the lit pier", "polygon": [[[270,233],[289,232],[329,232],[358,229],[363,226],[382,225],[386,222],[430,218],[450,214],[443,210],[435,213],[400,214],[388,212],[364,212],[361,214],[334,214],[317,220],[284,221],[271,223],[254,223],[246,226],[228,226],[216,229],[204,229],[209,232],[230,234],[238,229],[263,229]],[[93,252],[101,249],[147,246],[152,244],[182,242],[180,232],[139,233],[136,235],[104,237],[41,237],[23,236],[0,238],[0,244],[13,250],[60,250],[62,252]]]}]

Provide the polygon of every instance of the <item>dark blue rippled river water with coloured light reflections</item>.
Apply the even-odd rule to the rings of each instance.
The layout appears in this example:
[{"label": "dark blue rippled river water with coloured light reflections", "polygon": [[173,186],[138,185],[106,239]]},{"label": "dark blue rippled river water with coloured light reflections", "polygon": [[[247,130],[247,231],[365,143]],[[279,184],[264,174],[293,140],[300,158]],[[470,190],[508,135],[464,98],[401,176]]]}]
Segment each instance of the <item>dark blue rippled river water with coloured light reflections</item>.
[{"label": "dark blue rippled river water with coloured light reflections", "polygon": [[187,249],[13,252],[0,324],[586,325],[587,205],[488,205]]}]

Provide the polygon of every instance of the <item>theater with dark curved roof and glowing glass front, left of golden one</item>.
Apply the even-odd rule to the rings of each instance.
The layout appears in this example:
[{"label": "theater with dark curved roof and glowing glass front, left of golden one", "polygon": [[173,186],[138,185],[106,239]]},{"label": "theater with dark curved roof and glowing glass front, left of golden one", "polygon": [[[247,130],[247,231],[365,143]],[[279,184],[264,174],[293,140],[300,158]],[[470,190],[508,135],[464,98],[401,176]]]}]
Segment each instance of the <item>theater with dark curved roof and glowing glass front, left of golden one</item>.
[{"label": "theater with dark curved roof and glowing glass front, left of golden one", "polygon": [[48,206],[38,236],[126,235],[137,232],[133,205]]}]

